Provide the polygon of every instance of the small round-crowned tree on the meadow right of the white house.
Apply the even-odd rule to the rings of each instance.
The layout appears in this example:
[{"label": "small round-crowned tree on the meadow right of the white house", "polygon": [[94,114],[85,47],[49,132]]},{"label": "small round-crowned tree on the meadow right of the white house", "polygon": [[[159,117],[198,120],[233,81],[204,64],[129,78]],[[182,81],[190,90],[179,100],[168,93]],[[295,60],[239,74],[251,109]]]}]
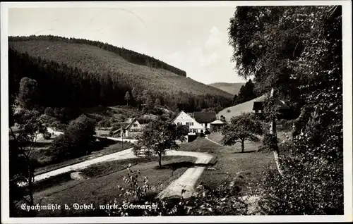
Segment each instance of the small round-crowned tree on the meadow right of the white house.
[{"label": "small round-crowned tree on the meadow right of the white house", "polygon": [[251,113],[242,113],[241,116],[232,117],[230,122],[222,128],[222,141],[226,145],[241,143],[241,152],[244,152],[246,140],[257,142],[256,135],[262,135],[262,125]]}]

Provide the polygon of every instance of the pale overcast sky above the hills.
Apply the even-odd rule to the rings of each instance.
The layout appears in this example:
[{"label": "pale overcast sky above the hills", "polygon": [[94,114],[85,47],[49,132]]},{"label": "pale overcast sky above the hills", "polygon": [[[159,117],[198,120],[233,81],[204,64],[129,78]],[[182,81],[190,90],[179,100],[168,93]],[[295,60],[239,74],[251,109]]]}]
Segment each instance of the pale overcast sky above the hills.
[{"label": "pale overcast sky above the hills", "polygon": [[78,37],[124,47],[199,82],[244,82],[230,62],[234,7],[9,8],[8,35]]}]

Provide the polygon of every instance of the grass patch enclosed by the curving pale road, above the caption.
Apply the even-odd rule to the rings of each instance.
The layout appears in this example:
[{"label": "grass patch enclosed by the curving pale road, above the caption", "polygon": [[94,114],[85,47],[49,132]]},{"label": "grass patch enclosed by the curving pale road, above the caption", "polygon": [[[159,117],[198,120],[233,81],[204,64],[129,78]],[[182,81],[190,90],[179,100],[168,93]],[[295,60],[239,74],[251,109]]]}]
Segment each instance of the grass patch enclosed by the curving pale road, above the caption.
[{"label": "grass patch enclosed by the curving pale road, above the caption", "polygon": [[[188,168],[182,164],[193,163],[196,158],[187,156],[164,156],[162,158],[162,168],[157,168],[156,157],[133,158],[124,161],[110,161],[106,163],[90,166],[82,172],[88,177],[87,180],[70,180],[69,173],[61,177],[46,180],[46,183],[37,187],[35,192],[35,203],[40,204],[106,204],[117,199],[118,203],[124,199],[131,200],[132,197],[125,197],[120,187],[127,187],[123,178],[128,177],[126,170],[131,163],[131,170],[140,170],[139,181],[143,183],[143,178],[148,177],[148,182],[152,189],[150,194],[155,195],[167,187],[173,180],[185,172]],[[44,189],[45,188],[45,189]],[[41,211],[38,216],[56,216],[58,212]]]}]

